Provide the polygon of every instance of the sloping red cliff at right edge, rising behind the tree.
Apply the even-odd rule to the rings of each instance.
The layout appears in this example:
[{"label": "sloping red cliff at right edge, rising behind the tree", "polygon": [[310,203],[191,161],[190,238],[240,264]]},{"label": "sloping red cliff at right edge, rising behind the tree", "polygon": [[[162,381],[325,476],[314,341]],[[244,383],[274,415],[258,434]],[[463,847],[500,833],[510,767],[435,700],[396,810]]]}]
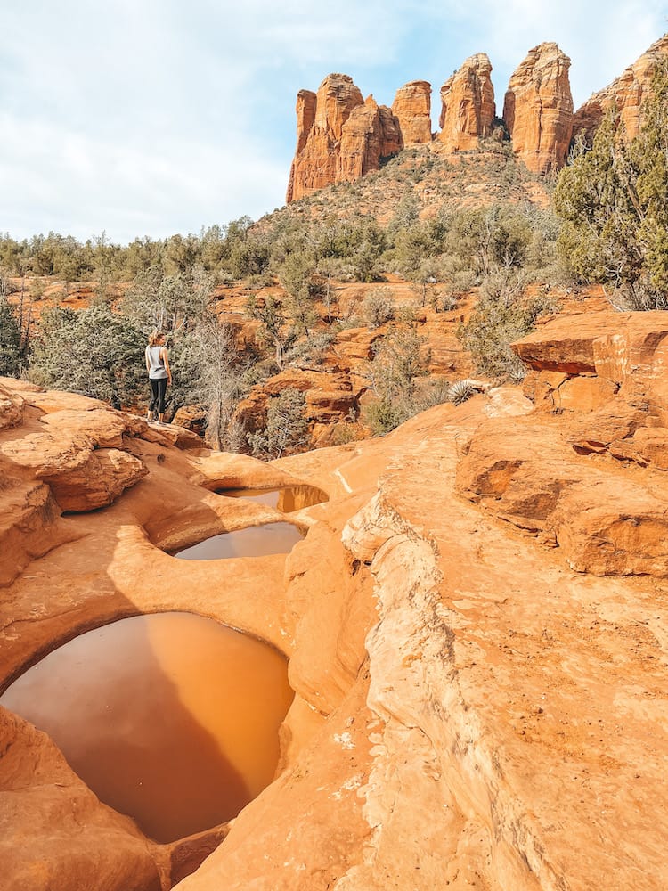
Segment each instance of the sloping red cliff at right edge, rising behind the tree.
[{"label": "sloping red cliff at right edge, rising behind the tree", "polygon": [[652,44],[647,53],[643,53],[612,84],[584,102],[574,114],[573,135],[582,133],[587,143],[591,144],[597,127],[611,105],[619,110],[626,135],[630,139],[637,135],[642,123],[640,106],[648,96],[656,66],[665,62],[666,58],[668,34]]}]

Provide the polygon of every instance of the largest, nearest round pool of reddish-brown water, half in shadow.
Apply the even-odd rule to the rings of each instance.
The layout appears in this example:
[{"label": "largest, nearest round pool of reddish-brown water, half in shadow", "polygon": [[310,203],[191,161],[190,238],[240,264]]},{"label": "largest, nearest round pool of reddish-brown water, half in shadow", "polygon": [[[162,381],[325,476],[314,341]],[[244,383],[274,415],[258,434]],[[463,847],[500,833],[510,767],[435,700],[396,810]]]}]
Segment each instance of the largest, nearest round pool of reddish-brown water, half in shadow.
[{"label": "largest, nearest round pool of reddish-brown water, half in shadow", "polygon": [[0,697],[96,795],[161,842],[239,813],[273,779],[286,661],[189,613],[139,616],[54,650]]}]

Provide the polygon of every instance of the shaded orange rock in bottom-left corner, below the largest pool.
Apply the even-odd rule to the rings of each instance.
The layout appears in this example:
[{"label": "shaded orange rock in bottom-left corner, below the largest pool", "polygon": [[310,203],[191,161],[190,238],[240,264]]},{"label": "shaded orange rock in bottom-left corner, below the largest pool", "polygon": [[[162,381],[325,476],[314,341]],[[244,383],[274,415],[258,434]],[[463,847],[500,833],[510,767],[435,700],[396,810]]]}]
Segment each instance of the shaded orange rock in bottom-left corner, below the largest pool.
[{"label": "shaded orange rock in bottom-left corner, below the largest pool", "polygon": [[102,805],[58,748],[0,707],[2,886],[160,891],[151,843]]}]

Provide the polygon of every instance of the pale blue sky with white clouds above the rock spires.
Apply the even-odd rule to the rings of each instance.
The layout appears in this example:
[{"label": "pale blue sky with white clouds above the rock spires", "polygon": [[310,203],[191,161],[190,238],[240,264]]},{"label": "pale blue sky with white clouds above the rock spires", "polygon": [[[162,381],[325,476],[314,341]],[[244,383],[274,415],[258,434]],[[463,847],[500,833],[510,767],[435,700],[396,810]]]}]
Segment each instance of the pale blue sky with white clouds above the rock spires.
[{"label": "pale blue sky with white clouds above the rock spires", "polygon": [[0,0],[0,233],[200,233],[281,207],[295,102],[330,72],[390,105],[473,53],[497,113],[533,46],[577,108],[668,30],[668,0]]}]

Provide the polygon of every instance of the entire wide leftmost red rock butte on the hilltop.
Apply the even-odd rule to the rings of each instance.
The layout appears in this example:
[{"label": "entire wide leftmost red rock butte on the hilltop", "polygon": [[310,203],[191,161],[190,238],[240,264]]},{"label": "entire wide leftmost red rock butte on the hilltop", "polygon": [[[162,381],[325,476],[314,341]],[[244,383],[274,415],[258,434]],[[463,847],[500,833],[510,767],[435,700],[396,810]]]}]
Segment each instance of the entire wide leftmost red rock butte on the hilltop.
[{"label": "entire wide leftmost red rock butte on the hilltop", "polygon": [[330,74],[317,94],[302,90],[297,95],[297,151],[286,200],[359,179],[402,148],[392,111],[372,96],[364,102],[347,75]]}]

